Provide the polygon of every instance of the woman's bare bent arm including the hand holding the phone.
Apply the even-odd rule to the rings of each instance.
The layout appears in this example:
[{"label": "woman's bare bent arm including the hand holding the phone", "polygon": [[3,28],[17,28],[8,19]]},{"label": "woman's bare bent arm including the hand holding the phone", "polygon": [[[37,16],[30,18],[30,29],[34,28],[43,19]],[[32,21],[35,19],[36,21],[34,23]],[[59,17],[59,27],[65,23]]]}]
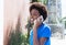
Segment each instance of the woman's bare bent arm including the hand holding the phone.
[{"label": "woman's bare bent arm including the hand holding the phone", "polygon": [[37,40],[37,27],[41,25],[41,19],[40,21],[35,20],[34,21],[34,26],[33,26],[33,45],[44,45],[46,38],[41,37]]}]

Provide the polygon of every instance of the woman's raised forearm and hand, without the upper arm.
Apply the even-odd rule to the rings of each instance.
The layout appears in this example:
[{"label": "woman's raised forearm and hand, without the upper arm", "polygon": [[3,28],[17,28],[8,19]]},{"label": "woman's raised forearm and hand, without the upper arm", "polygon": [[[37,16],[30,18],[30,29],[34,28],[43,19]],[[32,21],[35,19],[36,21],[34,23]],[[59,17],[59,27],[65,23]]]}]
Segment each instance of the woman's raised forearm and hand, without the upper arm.
[{"label": "woman's raised forearm and hand, without the upper arm", "polygon": [[40,26],[40,22],[37,20],[34,21],[33,26],[33,45],[40,45],[40,42],[37,40],[37,27]]}]

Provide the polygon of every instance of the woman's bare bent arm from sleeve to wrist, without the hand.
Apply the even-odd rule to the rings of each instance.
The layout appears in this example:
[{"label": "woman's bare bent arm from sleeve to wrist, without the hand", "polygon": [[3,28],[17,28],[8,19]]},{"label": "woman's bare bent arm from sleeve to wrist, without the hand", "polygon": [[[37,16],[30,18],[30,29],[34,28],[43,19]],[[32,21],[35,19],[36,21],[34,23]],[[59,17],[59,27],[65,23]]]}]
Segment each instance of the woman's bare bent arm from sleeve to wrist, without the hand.
[{"label": "woman's bare bent arm from sleeve to wrist, without the hand", "polygon": [[33,29],[33,45],[44,45],[46,37],[41,37],[40,41],[37,40],[37,29]]}]

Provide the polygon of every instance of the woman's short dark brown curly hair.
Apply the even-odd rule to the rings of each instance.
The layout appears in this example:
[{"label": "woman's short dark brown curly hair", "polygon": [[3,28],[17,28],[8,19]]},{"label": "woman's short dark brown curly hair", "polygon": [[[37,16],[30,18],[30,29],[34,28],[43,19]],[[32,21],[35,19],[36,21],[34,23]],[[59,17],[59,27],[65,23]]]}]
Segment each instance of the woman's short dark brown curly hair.
[{"label": "woman's short dark brown curly hair", "polygon": [[31,3],[30,12],[33,9],[36,9],[40,12],[40,15],[42,15],[44,20],[47,18],[47,10],[46,10],[46,7],[44,4],[41,4],[38,2],[33,2],[33,3]]}]

